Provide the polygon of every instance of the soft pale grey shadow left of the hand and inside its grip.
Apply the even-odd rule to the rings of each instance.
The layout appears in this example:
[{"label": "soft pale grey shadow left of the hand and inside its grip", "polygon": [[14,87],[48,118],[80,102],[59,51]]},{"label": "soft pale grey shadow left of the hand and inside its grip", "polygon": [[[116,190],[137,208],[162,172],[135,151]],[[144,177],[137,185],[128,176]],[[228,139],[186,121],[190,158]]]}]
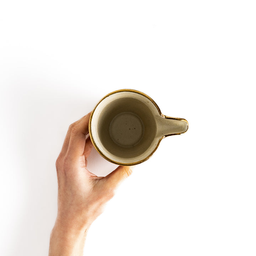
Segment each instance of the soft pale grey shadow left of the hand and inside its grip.
[{"label": "soft pale grey shadow left of the hand and inside its grip", "polygon": [[[69,124],[89,113],[98,98],[81,92],[22,88],[15,91],[11,114],[15,120],[15,146],[19,163],[15,214],[8,255],[48,255],[49,236],[57,216],[57,175],[55,161]],[[97,163],[97,164],[95,164]],[[110,173],[116,165],[92,150],[88,168],[98,176]],[[22,198],[19,193],[22,192]]]}]

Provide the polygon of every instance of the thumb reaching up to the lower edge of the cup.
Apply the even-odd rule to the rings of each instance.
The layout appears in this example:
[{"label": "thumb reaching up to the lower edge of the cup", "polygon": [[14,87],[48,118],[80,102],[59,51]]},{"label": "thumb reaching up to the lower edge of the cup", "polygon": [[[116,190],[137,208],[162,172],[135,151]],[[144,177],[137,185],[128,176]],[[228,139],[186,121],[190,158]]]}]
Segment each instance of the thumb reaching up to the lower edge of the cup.
[{"label": "thumb reaching up to the lower edge of the cup", "polygon": [[105,177],[107,187],[117,188],[123,180],[132,174],[133,168],[134,166],[118,166],[114,171]]}]

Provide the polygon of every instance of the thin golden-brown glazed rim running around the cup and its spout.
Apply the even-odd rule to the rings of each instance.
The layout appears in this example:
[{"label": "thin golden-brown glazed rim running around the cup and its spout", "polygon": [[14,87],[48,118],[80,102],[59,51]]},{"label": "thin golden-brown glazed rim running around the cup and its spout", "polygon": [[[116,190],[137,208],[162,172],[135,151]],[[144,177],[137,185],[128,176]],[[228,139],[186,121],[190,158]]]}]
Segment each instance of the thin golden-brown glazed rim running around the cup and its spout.
[{"label": "thin golden-brown glazed rim running around the cup and its spout", "polygon": [[[165,137],[167,136],[170,136],[170,135],[178,135],[178,134],[181,134],[181,133],[176,133],[176,134],[169,134],[169,135],[164,135],[162,138],[159,139],[158,141],[158,144],[156,145],[155,149],[150,153],[150,155],[148,155],[146,158],[140,160],[140,161],[137,161],[137,162],[131,162],[129,164],[126,164],[126,163],[122,163],[122,162],[116,162],[116,161],[113,161],[112,159],[108,158],[107,156],[105,156],[101,150],[98,148],[98,146],[96,145],[95,141],[94,141],[94,138],[92,137],[92,132],[91,132],[91,121],[92,121],[92,116],[97,108],[97,106],[105,99],[107,98],[108,96],[112,95],[112,94],[116,94],[118,92],[134,92],[134,93],[137,93],[137,94],[140,94],[146,98],[148,98],[154,105],[155,107],[157,108],[159,114],[164,117],[164,118],[167,118],[167,119],[176,119],[176,120],[181,120],[181,121],[185,121],[188,125],[188,122],[186,119],[183,119],[183,118],[175,118],[175,117],[168,117],[168,116],[165,116],[164,114],[161,113],[160,111],[160,108],[159,106],[155,103],[155,101],[150,98],[148,95],[144,94],[143,92],[140,92],[140,91],[137,91],[137,90],[133,90],[133,89],[122,89],[122,90],[117,90],[117,91],[113,91],[113,92],[110,92],[109,94],[107,94],[105,97],[103,97],[98,103],[97,105],[94,107],[94,109],[92,110],[92,113],[91,113],[91,116],[90,116],[90,120],[89,120],[89,134],[90,134],[90,138],[91,138],[91,141],[92,141],[92,144],[94,145],[94,147],[96,148],[96,150],[98,151],[98,153],[103,157],[105,158],[106,160],[112,162],[113,164],[117,164],[117,165],[123,165],[123,166],[130,166],[130,165],[137,165],[137,164],[141,164],[142,162],[145,162],[146,160],[148,160],[156,151],[156,149],[158,149],[158,146],[161,142],[162,139],[164,139]],[[186,130],[187,131],[187,130]],[[185,131],[185,132],[186,132]],[[185,133],[185,132],[182,132],[182,133]]]}]

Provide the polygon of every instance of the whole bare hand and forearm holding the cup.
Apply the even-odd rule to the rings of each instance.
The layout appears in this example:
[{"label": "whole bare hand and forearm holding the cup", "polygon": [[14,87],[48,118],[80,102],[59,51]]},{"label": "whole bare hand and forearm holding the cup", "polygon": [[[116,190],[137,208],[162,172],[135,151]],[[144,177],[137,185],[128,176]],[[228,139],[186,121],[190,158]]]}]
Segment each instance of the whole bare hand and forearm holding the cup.
[{"label": "whole bare hand and forearm holding the cup", "polygon": [[132,174],[132,166],[118,166],[106,177],[87,169],[93,147],[90,114],[69,126],[56,161],[58,214],[50,234],[49,256],[82,256],[87,231],[114,196],[120,183]]}]

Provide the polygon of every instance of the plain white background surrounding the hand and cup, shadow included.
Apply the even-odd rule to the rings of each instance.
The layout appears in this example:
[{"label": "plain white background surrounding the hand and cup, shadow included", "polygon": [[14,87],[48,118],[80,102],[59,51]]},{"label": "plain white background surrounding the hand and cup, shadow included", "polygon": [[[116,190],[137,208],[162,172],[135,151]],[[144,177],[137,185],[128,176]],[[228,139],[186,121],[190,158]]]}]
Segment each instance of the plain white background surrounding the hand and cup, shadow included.
[{"label": "plain white background surrounding the hand and cup, shadow included", "polygon": [[[0,255],[48,255],[70,123],[118,89],[188,132],[162,140],[85,255],[256,255],[255,1],[1,1]],[[89,168],[116,166],[96,151]]]}]

